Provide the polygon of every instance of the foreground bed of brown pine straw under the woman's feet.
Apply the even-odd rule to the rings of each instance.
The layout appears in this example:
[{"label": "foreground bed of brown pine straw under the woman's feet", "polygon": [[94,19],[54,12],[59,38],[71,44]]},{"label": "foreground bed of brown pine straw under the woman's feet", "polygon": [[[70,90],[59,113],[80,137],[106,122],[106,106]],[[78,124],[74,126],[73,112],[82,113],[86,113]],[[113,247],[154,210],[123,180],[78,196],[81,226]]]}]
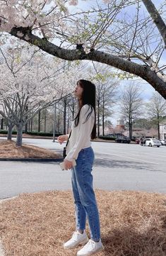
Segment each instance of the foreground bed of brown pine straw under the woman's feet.
[{"label": "foreground bed of brown pine straw under the woman's feet", "polygon": [[[96,196],[105,246],[99,256],[166,255],[166,195],[96,191]],[[71,191],[21,194],[0,207],[6,256],[70,256],[81,248],[63,249],[75,227]]]}]

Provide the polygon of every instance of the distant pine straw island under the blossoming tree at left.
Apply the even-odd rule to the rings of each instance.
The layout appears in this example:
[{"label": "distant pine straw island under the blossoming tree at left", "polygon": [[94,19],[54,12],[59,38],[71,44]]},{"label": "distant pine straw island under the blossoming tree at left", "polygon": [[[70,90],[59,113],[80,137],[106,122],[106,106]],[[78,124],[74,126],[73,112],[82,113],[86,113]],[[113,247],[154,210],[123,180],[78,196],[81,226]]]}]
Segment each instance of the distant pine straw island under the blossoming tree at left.
[{"label": "distant pine straw island under the blossoming tree at left", "polygon": [[13,140],[0,141],[0,158],[61,158],[61,155],[34,145],[16,146]]}]

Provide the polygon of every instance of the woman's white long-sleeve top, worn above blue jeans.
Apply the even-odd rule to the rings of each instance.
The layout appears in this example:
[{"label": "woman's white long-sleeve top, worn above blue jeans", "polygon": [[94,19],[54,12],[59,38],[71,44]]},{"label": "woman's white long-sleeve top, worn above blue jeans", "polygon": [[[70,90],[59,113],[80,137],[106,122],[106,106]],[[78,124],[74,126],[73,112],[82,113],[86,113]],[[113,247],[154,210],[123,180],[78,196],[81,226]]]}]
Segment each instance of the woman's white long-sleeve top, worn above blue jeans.
[{"label": "woman's white long-sleeve top, worn above blue jeans", "polygon": [[95,123],[95,111],[93,109],[87,121],[86,117],[90,113],[91,107],[85,104],[80,111],[80,119],[78,126],[74,126],[74,121],[71,126],[71,136],[69,138],[69,143],[66,148],[66,160],[72,161],[77,159],[78,153],[83,148],[89,148],[91,145],[90,135],[93,130]]}]

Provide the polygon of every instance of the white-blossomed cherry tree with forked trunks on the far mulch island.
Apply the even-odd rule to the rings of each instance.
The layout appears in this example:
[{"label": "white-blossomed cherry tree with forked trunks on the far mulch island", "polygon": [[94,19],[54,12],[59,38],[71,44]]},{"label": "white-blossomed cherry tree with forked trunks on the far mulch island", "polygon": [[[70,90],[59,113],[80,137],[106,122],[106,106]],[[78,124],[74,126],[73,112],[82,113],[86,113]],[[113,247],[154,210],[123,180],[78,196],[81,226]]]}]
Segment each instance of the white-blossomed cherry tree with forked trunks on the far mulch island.
[{"label": "white-blossomed cherry tree with forked trunks on the far mulch island", "polygon": [[[20,46],[20,47],[19,47]],[[23,45],[13,45],[1,50],[4,62],[1,63],[0,103],[1,116],[8,124],[8,139],[11,139],[13,126],[17,129],[16,145],[22,145],[23,126],[42,108],[50,106],[66,95],[71,94],[75,84],[67,78],[73,76],[70,68],[64,72],[66,62],[39,54],[38,50]],[[75,74],[76,77],[76,74]]]}]

